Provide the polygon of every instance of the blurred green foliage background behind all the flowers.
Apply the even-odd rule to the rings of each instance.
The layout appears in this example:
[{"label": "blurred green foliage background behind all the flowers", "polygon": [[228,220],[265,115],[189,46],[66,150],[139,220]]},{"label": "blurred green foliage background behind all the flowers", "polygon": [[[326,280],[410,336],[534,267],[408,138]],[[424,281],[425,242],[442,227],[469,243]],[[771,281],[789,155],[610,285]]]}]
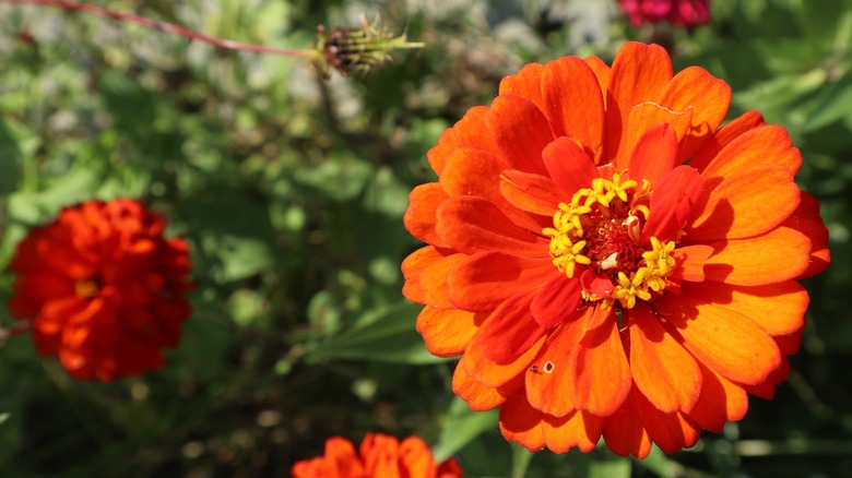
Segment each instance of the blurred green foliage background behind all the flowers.
[{"label": "blurred green foliage background behind all the flowers", "polygon": [[[62,206],[133,196],[190,241],[199,285],[179,348],[141,379],[80,383],[26,337],[0,345],[0,476],[287,476],[327,438],[369,430],[418,433],[468,476],[852,476],[851,0],[717,0],[712,24],[694,31],[630,28],[607,0],[108,7],[288,48],[380,11],[427,47],[364,80],[323,82],[293,58],[0,2],[0,265]],[[788,128],[833,263],[807,284],[790,380],[739,423],[668,457],[528,463],[496,413],[453,397],[452,362],[414,331],[399,264],[417,242],[402,214],[411,188],[435,178],[426,151],[489,104],[501,76],[564,55],[608,61],[627,39],[664,43],[677,69],[726,80],[731,117],[759,109]],[[0,275],[3,300],[11,280]]]}]

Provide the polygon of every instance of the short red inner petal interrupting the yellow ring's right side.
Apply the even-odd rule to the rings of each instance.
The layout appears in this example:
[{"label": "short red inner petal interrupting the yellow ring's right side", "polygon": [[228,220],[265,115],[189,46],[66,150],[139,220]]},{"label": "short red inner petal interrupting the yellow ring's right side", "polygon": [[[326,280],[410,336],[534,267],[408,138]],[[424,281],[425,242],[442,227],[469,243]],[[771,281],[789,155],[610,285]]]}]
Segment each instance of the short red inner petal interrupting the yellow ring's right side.
[{"label": "short red inner petal interrupting the yellow ring's right side", "polygon": [[678,166],[663,176],[651,194],[651,214],[640,243],[648,243],[651,237],[663,243],[671,240],[686,225],[700,193],[701,177],[689,166]]}]

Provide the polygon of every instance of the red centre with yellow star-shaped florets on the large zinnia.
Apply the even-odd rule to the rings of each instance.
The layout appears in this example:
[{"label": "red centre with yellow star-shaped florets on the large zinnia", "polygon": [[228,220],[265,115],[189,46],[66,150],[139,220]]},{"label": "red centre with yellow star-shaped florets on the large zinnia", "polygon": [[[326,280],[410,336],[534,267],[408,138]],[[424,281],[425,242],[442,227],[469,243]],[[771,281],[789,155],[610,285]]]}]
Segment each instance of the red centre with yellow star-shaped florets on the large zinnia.
[{"label": "red centre with yellow star-shaped florets on the large zinnia", "polygon": [[641,186],[619,175],[612,180],[597,178],[591,188],[577,191],[570,204],[559,203],[554,227],[542,230],[551,238],[551,256],[559,272],[573,278],[583,267],[583,298],[603,300],[604,307],[618,301],[632,309],[636,300],[650,300],[665,289],[665,277],[675,266],[671,252],[675,241],[652,237],[640,243],[648,219],[650,183]]}]

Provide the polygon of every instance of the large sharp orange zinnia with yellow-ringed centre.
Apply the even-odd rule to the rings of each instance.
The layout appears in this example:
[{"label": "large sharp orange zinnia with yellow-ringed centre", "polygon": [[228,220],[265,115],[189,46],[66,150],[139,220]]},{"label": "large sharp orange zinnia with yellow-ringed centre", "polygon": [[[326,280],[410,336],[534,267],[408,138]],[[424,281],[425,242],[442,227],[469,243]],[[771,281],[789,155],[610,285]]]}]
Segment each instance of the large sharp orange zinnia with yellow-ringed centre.
[{"label": "large sharp orange zinnia with yellow-ringed centre", "polygon": [[453,390],[530,450],[691,446],[771,397],[800,342],[796,279],[828,264],[786,132],[720,128],[729,86],[655,45],[529,64],[472,108],[411,193],[417,330]]}]

